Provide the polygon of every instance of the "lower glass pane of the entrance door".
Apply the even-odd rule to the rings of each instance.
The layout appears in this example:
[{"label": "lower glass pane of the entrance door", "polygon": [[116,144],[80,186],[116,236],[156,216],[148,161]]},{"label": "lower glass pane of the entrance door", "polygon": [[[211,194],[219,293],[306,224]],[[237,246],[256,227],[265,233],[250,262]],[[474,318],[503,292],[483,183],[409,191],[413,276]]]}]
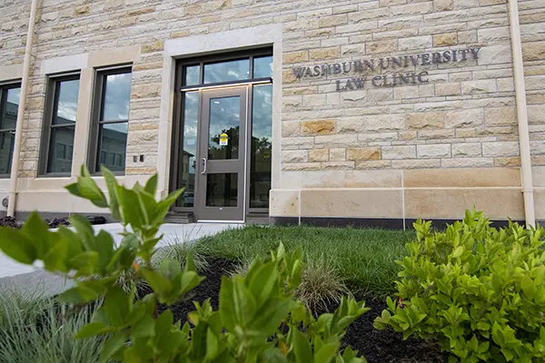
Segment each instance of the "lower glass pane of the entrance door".
[{"label": "lower glass pane of the entrance door", "polygon": [[206,206],[236,207],[238,196],[238,174],[206,175]]}]

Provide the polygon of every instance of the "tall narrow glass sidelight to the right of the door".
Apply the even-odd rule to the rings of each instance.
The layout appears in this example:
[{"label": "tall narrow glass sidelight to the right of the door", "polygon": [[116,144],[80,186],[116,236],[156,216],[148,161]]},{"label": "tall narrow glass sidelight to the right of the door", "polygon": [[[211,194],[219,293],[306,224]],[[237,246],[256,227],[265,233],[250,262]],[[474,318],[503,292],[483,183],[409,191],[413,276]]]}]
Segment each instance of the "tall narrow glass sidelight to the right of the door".
[{"label": "tall narrow glass sidelight to the right of the door", "polygon": [[269,208],[272,155],[272,84],[253,87],[250,208]]}]

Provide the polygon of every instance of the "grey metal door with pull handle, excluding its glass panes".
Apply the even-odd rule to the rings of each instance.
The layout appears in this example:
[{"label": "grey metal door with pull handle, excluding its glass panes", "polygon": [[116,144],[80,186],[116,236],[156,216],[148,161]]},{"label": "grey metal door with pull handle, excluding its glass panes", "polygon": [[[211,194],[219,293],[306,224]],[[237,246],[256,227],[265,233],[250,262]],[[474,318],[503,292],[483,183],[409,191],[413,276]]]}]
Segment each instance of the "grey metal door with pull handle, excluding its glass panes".
[{"label": "grey metal door with pull handle, excluding its glass panes", "polygon": [[[211,87],[210,89],[201,89],[199,91],[200,100],[200,114],[199,114],[199,127],[197,142],[199,143],[197,148],[197,170],[195,180],[195,204],[194,211],[196,220],[198,222],[233,222],[243,223],[246,219],[246,189],[248,187],[247,174],[248,174],[248,131],[251,128],[249,107],[249,90],[250,86],[244,84],[241,86],[232,87]],[[218,160],[208,161],[208,142],[209,142],[209,126],[210,126],[210,102],[213,98],[223,98],[229,96],[240,96],[241,116],[240,116],[240,129],[239,129],[239,157],[235,160]],[[204,162],[203,162],[204,160]],[[208,175],[205,165],[208,166],[212,162],[213,164],[233,163],[239,164],[235,166],[234,170],[238,174],[237,180],[237,206],[236,207],[206,207],[206,187]],[[227,167],[229,169],[229,167]],[[228,172],[228,171],[225,171]],[[221,173],[221,172],[213,172]],[[218,210],[219,208],[222,208]],[[223,211],[224,208],[229,209],[237,213],[240,218],[233,220],[225,219],[219,215],[224,214],[227,211]],[[237,216],[237,217],[238,217]]]}]

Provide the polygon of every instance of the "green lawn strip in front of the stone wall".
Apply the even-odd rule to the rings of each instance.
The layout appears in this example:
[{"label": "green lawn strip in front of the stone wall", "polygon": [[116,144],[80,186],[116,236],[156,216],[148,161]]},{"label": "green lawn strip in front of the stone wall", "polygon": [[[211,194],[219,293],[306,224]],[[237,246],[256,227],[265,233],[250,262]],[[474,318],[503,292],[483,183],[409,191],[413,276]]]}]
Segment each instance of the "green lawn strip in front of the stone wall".
[{"label": "green lawn strip in front of the stone wall", "polygon": [[197,240],[194,247],[206,255],[248,261],[268,258],[281,241],[287,250],[302,246],[306,259],[322,259],[353,292],[383,296],[394,291],[399,270],[394,261],[413,238],[413,231],[248,226]]}]

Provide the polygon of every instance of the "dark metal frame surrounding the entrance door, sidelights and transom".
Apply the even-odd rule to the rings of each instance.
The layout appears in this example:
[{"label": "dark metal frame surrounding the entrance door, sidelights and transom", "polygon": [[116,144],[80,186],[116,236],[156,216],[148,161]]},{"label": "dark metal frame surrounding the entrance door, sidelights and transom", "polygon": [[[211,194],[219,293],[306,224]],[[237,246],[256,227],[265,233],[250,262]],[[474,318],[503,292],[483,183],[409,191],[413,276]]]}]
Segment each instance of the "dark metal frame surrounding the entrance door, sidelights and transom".
[{"label": "dark metal frame surrounding the entrance door, sidelights and transom", "polygon": [[[196,56],[191,58],[179,58],[176,62],[176,70],[175,70],[175,82],[174,82],[174,100],[173,100],[173,140],[171,143],[171,167],[170,167],[170,177],[169,177],[169,191],[174,191],[177,188],[177,182],[178,182],[178,172],[180,168],[180,148],[183,147],[183,111],[185,110],[185,104],[183,102],[184,100],[184,94],[185,93],[193,93],[195,91],[199,92],[200,89],[206,89],[206,88],[212,88],[216,86],[221,85],[236,85],[237,83],[242,84],[248,84],[248,83],[255,83],[255,82],[270,82],[272,83],[272,77],[264,77],[264,78],[253,78],[253,59],[254,58],[261,58],[264,56],[273,56],[272,52],[272,45],[264,45],[264,47],[260,48],[254,48],[254,49],[246,49],[242,51],[236,51],[236,52],[230,52],[228,54],[221,53],[221,54],[208,54],[203,56]],[[203,83],[204,81],[204,64],[212,64],[212,63],[221,63],[221,62],[227,62],[227,61],[235,61],[239,59],[249,59],[249,65],[250,65],[250,74],[249,78],[246,80],[241,81],[230,81],[230,82],[223,82],[223,83]],[[186,67],[193,66],[193,65],[199,65],[199,83],[198,84],[190,84],[185,85],[185,69]],[[253,126],[253,117],[252,117],[252,104],[253,104],[253,85],[249,89],[250,97],[248,102],[248,127],[247,132],[252,132],[252,126]],[[199,92],[200,93],[200,92]],[[202,108],[202,100],[201,97],[199,97],[199,106],[198,106],[198,114],[197,117],[201,118],[201,108]],[[251,133],[250,133],[251,135]],[[200,143],[200,137],[197,137],[197,145],[196,148],[199,150],[199,143]],[[251,145],[247,145],[248,147],[248,154],[251,153]],[[251,158],[248,158],[248,163],[250,162]],[[250,165],[248,164],[247,173],[247,183],[246,183],[246,195],[250,196]],[[195,185],[195,191],[198,186]],[[194,191],[193,191],[194,192]],[[195,192],[196,194],[196,192]],[[246,198],[246,215],[253,214],[253,213],[268,213],[269,208],[250,208],[250,200],[249,198]],[[173,204],[173,207],[171,208],[171,211],[177,211],[177,212],[194,212],[196,210],[195,201],[193,201],[193,207],[180,207],[177,205],[177,203]]]}]

